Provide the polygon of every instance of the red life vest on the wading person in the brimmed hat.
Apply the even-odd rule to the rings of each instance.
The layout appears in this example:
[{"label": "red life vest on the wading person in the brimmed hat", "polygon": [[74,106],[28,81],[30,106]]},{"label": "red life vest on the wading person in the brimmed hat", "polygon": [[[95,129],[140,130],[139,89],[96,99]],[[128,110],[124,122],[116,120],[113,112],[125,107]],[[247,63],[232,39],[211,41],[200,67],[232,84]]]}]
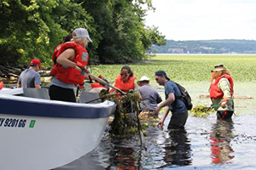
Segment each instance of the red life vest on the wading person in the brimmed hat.
[{"label": "red life vest on the wading person in the brimmed hat", "polygon": [[226,79],[229,80],[230,82],[230,94],[231,96],[233,96],[233,80],[229,75],[222,75],[221,77],[218,77],[217,79],[215,79],[215,82],[213,82],[211,84],[210,87],[210,98],[211,99],[222,99],[224,96],[224,93],[218,88],[218,82],[220,79],[222,79],[223,77],[225,77]]}]

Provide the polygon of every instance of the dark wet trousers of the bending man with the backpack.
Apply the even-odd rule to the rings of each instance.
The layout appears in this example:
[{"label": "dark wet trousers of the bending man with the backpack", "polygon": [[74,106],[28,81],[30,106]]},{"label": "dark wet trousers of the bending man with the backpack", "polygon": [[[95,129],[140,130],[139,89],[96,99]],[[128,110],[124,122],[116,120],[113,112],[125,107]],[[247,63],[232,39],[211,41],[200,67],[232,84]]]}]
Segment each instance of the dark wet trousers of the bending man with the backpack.
[{"label": "dark wet trousers of the bending man with the backpack", "polygon": [[172,114],[171,121],[169,122],[168,129],[184,127],[188,119],[188,111],[185,113]]}]

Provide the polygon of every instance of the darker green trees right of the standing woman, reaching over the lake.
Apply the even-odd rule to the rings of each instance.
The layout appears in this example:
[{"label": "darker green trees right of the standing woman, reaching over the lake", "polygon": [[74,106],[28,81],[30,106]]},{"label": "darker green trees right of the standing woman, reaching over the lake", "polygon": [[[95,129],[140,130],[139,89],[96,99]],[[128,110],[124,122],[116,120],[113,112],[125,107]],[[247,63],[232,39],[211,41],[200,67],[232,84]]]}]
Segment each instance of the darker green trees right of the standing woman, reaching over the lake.
[{"label": "darker green trees right of the standing woman, reaching over the lake", "polygon": [[101,35],[97,48],[101,63],[125,63],[145,59],[145,51],[154,42],[164,43],[164,37],[157,36],[159,32],[156,29],[144,27],[143,16],[146,10],[141,7],[143,4],[147,4],[148,9],[154,9],[151,0],[83,3],[84,8],[94,18],[96,30]]}]

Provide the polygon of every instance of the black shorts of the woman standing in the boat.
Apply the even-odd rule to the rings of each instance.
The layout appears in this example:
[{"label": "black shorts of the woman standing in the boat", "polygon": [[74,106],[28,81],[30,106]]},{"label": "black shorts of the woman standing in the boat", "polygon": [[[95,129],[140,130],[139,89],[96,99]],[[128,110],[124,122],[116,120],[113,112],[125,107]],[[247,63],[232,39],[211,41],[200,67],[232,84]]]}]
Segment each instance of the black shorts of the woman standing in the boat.
[{"label": "black shorts of the woman standing in the boat", "polygon": [[49,87],[49,99],[59,101],[77,102],[73,89],[61,88],[59,86],[51,85]]}]

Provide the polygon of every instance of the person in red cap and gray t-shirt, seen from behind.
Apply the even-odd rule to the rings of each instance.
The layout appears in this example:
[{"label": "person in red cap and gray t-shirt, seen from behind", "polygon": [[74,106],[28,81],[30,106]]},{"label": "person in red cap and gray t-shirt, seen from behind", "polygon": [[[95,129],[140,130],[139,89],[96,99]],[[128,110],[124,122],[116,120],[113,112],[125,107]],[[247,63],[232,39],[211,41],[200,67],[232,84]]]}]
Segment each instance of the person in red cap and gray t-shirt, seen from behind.
[{"label": "person in red cap and gray t-shirt, seen from behind", "polygon": [[21,72],[17,88],[41,88],[41,77],[38,73],[40,68],[39,59],[32,59],[29,68]]}]

